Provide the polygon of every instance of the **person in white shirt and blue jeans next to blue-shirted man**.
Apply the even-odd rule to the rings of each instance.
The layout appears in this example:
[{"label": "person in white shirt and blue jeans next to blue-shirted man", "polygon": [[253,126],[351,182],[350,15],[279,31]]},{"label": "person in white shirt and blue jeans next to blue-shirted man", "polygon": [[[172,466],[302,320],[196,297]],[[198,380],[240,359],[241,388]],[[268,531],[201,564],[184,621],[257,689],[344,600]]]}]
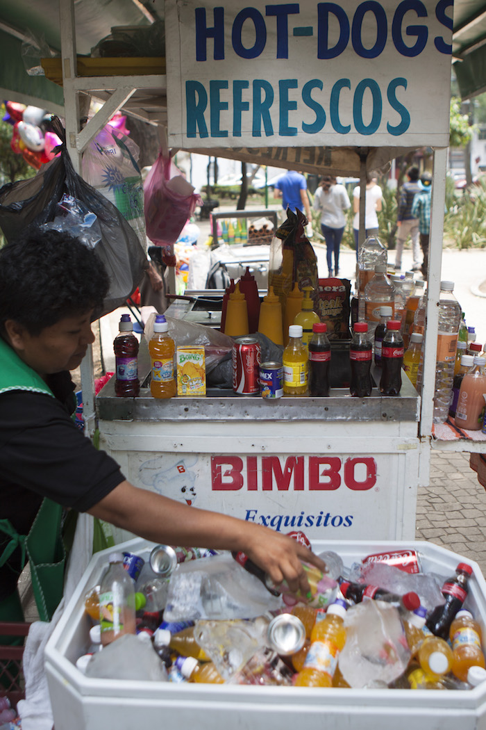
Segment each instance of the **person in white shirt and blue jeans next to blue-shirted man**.
[{"label": "person in white shirt and blue jeans next to blue-shirted man", "polygon": [[[337,183],[332,175],[325,175],[315,191],[314,210],[321,211],[321,231],[327,247],[327,268],[329,276],[339,274],[339,258],[342,234],[346,225],[345,211],[351,207],[344,185]],[[334,253],[334,273],[332,255]]]}]

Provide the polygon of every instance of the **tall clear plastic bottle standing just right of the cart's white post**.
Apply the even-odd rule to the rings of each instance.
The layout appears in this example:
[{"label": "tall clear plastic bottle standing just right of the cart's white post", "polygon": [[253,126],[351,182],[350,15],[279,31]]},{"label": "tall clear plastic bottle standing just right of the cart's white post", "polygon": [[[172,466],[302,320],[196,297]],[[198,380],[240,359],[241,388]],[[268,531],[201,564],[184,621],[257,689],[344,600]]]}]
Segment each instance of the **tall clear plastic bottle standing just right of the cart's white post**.
[{"label": "tall clear plastic bottle standing just right of the cart's white post", "polygon": [[462,310],[454,294],[454,283],[442,281],[439,300],[439,331],[434,395],[434,423],[444,423],[449,415],[454,379],[455,346],[458,342]]}]

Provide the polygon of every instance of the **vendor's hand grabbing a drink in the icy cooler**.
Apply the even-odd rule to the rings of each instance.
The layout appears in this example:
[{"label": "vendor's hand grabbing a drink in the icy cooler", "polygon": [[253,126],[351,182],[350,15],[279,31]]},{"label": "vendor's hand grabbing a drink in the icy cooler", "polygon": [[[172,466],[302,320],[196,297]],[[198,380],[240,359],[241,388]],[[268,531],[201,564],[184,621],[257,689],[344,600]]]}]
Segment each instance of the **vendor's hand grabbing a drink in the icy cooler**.
[{"label": "vendor's hand grabbing a drink in the icy cooler", "polygon": [[243,550],[248,558],[270,575],[275,585],[285,580],[293,593],[300,591],[302,596],[306,596],[310,591],[310,585],[302,561],[326,572],[324,561],[297,540],[281,532],[251,523],[246,524],[248,528],[252,528],[248,530],[249,541]]}]

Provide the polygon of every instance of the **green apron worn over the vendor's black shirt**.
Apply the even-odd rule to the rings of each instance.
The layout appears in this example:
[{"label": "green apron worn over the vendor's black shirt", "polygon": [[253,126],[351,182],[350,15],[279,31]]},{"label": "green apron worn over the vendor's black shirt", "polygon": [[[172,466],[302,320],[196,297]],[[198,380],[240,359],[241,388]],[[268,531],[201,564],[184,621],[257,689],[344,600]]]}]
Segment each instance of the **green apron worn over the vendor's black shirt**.
[{"label": "green apron worn over the vendor's black shirt", "polygon": [[[8,391],[31,391],[54,394],[42,377],[24,363],[0,337],[0,394]],[[61,539],[63,507],[44,498],[27,535],[20,535],[7,519],[0,520],[0,532],[9,542],[0,555],[3,566],[13,551],[20,548],[22,565],[28,561],[32,588],[41,621],[50,621],[63,597],[66,550]],[[17,591],[0,602],[0,621],[23,621]]]}]

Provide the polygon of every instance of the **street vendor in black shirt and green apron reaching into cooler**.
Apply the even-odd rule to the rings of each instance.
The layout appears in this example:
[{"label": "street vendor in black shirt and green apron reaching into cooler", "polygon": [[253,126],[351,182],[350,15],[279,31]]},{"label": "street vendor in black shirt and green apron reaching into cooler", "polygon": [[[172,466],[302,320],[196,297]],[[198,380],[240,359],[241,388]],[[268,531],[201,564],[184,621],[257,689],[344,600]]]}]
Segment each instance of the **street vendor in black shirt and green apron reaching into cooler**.
[{"label": "street vendor in black shirt and green apron reaching into cooler", "polygon": [[52,603],[68,510],[152,542],[242,550],[275,583],[285,579],[307,593],[301,561],[325,569],[307,548],[255,523],[136,488],[74,425],[68,371],[95,339],[90,323],[108,288],[98,255],[67,234],[36,228],[0,250],[0,621],[22,620],[17,578],[26,561],[36,599],[40,593]]}]

